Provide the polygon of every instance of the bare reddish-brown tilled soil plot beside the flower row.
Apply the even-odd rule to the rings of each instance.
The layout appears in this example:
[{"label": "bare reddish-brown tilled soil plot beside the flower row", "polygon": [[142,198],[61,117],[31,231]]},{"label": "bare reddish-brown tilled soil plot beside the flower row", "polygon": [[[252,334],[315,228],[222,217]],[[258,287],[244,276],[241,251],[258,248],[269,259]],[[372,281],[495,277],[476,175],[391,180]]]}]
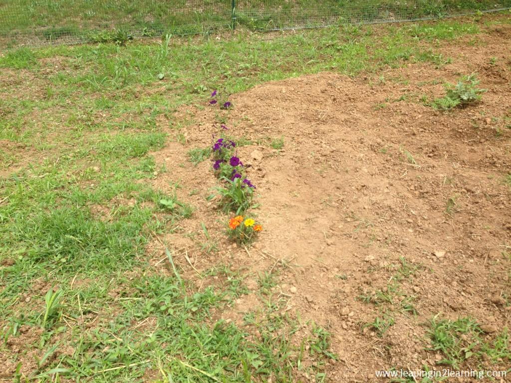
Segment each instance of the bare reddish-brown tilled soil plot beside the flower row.
[{"label": "bare reddish-brown tilled soil plot beside the flower row", "polygon": [[[332,381],[435,366],[444,356],[425,349],[435,315],[474,318],[487,333],[482,339],[492,341],[511,318],[510,36],[499,27],[475,44],[446,45],[440,50],[453,63],[438,69],[410,64],[357,79],[321,73],[233,95],[228,134],[260,144],[238,153],[257,185],[254,212],[265,230],[251,249],[219,239],[219,253],[191,250],[191,262],[177,256],[177,264],[191,279],[191,264],[204,270],[220,261],[252,275],[278,271],[273,292],[287,300],[283,311],[332,333]],[[419,102],[442,97],[443,80],[473,72],[487,89],[481,103],[443,113]],[[179,111],[179,118],[193,116],[187,145],[169,143],[153,153],[157,163],[210,145],[220,132],[217,113]],[[266,145],[281,136],[282,150]],[[211,163],[191,167],[161,174],[155,186],[180,179],[187,187],[178,194],[198,207],[184,230],[213,222],[210,233],[221,233],[226,219],[218,219],[215,203],[185,193],[217,184]],[[195,246],[181,234],[163,239]],[[148,251],[155,263],[158,248],[154,242]],[[256,285],[248,280],[251,290]],[[242,324],[246,310],[261,305],[249,294],[218,316]],[[509,367],[493,362],[494,370]]]}]

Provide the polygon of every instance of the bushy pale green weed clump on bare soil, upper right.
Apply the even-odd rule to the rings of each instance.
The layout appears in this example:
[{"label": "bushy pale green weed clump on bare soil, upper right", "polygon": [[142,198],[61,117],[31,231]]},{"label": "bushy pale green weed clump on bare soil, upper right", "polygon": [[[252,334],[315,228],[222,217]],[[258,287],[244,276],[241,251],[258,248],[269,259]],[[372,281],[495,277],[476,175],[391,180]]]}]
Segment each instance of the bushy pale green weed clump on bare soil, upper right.
[{"label": "bushy pale green weed clump on bare soil, upper right", "polygon": [[479,80],[475,74],[461,77],[456,85],[446,84],[445,97],[435,99],[431,106],[435,109],[449,110],[455,107],[466,107],[481,100],[481,94],[486,89],[478,88]]}]

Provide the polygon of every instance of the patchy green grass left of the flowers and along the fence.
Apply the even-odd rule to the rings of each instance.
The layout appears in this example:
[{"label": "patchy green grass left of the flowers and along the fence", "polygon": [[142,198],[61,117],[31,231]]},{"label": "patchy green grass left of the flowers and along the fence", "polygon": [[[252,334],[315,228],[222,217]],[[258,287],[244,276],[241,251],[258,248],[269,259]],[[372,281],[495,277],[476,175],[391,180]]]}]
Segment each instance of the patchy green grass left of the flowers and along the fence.
[{"label": "patchy green grass left of the flowers and along the fence", "polygon": [[[60,12],[57,5],[54,12]],[[449,25],[456,36],[477,33],[471,22],[445,21],[428,24],[433,31],[424,38]],[[21,366],[20,380],[60,371],[81,381],[151,376],[177,382],[189,376],[197,382],[246,382],[272,376],[291,382],[301,368],[311,381],[322,381],[325,361],[334,356],[328,331],[311,325],[296,339],[302,324],[280,315],[285,301],[272,295],[275,271],[258,280],[264,308],[247,313],[242,325],[215,319],[247,293],[239,270],[222,265],[215,271],[218,279],[204,273],[197,283],[154,271],[148,243],[186,227],[193,214],[186,196],[206,192],[184,189],[177,198],[153,186],[155,174],[192,166],[208,152],[186,147],[192,165],[183,156],[165,167],[152,152],[170,140],[188,145],[184,129],[194,116],[174,113],[182,105],[205,107],[211,89],[231,94],[324,70],[357,76],[415,61],[435,65],[434,49],[416,44],[410,28],[332,28],[265,39],[240,33],[219,41],[170,38],[5,52],[0,67],[9,81],[0,88],[0,139],[16,146],[6,146],[0,156],[0,318],[5,318],[0,352],[10,352],[7,340],[21,337],[21,327],[43,328],[15,356],[14,363],[32,352],[40,356],[36,370],[25,371],[26,362]],[[374,37],[376,31],[382,39]],[[444,32],[436,36],[451,38]],[[265,138],[264,144],[281,150],[284,137]],[[215,233],[205,225],[211,239],[198,247],[214,253]],[[401,269],[402,280],[416,273],[409,264]],[[52,286],[58,299],[48,296],[47,302]],[[384,329],[390,319],[382,320],[378,327]],[[254,329],[260,338],[248,337]],[[68,347],[73,351],[60,352]]]}]

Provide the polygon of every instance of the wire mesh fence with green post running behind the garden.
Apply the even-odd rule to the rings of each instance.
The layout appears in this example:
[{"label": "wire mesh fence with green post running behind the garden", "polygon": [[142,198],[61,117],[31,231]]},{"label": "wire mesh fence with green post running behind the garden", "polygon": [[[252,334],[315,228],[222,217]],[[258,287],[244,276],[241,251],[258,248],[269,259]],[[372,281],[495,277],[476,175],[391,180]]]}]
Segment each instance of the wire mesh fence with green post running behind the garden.
[{"label": "wire mesh fence with green post running behind the garden", "polygon": [[508,9],[511,0],[2,0],[0,45],[123,42],[229,28],[314,28]]}]

